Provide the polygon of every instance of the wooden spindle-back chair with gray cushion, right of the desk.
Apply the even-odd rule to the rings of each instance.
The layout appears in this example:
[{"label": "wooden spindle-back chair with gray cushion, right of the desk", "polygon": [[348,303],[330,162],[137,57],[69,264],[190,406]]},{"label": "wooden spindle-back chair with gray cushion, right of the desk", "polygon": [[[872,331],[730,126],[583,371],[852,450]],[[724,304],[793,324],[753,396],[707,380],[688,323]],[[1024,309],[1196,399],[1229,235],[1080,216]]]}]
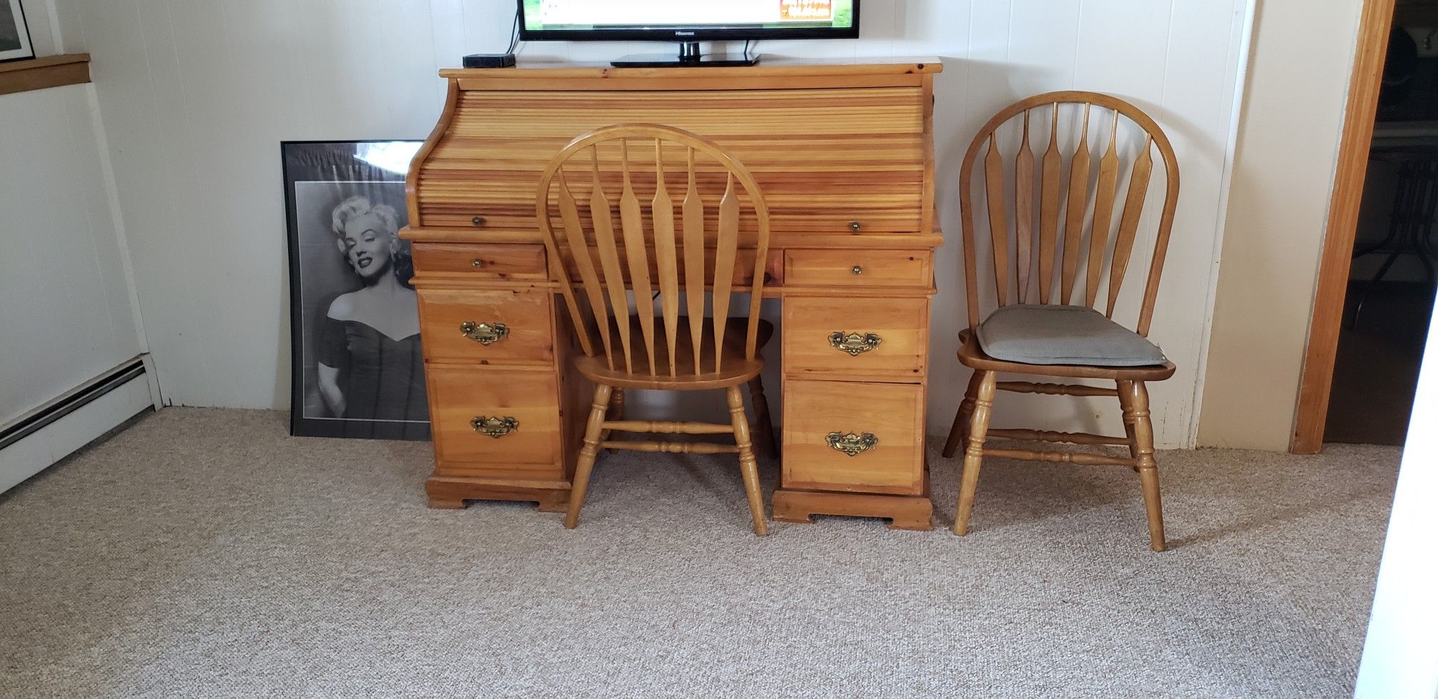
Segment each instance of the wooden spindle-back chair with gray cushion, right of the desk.
[{"label": "wooden spindle-back chair with gray cushion, right of the desk", "polygon": [[[1048,144],[1043,157],[1035,161],[1031,134],[1031,112],[1037,112],[1041,119],[1045,111],[1051,111],[1047,119],[1048,128],[1037,125],[1032,131],[1048,132]],[[1063,129],[1064,134],[1074,134],[1077,145],[1067,158],[1060,152],[1060,115],[1070,115],[1074,122],[1081,121],[1081,131],[1074,134],[1073,122]],[[1099,138],[1090,150],[1090,119],[1093,131]],[[1005,191],[1004,187],[1004,154],[999,152],[1004,137],[999,128],[1005,124],[1009,137],[1018,135],[1017,154],[1012,154],[1012,171],[1015,187]],[[1021,122],[1021,125],[1018,124]],[[1125,122],[1120,131],[1120,122]],[[1041,122],[1040,122],[1041,124]],[[1136,129],[1133,128],[1136,127]],[[1081,135],[1078,135],[1081,134]],[[1132,135],[1132,141],[1123,137]],[[1103,138],[1107,137],[1107,138]],[[1097,181],[1093,183],[1093,155],[1097,158]],[[1120,144],[1119,141],[1126,141]],[[1035,95],[1014,104],[988,121],[974,138],[968,152],[963,155],[959,175],[959,207],[963,223],[963,272],[968,291],[969,328],[961,332],[962,347],[959,348],[959,362],[974,370],[968,391],[953,420],[953,430],[943,447],[945,456],[953,456],[961,443],[966,442],[963,453],[963,480],[959,489],[958,516],[953,522],[953,534],[968,532],[969,513],[974,508],[974,490],[978,486],[979,466],[984,456],[998,456],[1008,459],[1028,459],[1053,463],[1078,465],[1123,465],[1139,472],[1143,486],[1143,501],[1148,509],[1149,538],[1153,551],[1163,551],[1163,509],[1159,499],[1158,463],[1153,459],[1153,426],[1149,417],[1149,394],[1146,381],[1159,381],[1173,375],[1173,364],[1158,354],[1158,361],[1148,365],[1112,365],[1100,362],[1068,362],[1068,364],[1032,364],[1030,361],[1001,360],[985,354],[979,342],[981,326],[985,315],[979,312],[981,285],[976,270],[975,239],[979,230],[975,226],[975,164],[982,154],[984,175],[979,180],[985,191],[985,206],[988,213],[988,237],[994,257],[994,298],[997,308],[1011,305],[1078,305],[1097,311],[1104,302],[1103,316],[1112,319],[1114,306],[1119,302],[1119,291],[1129,268],[1129,257],[1135,249],[1139,220],[1145,209],[1145,198],[1149,181],[1153,174],[1153,151],[1158,150],[1165,168],[1166,188],[1158,219],[1158,232],[1153,239],[1153,256],[1149,262],[1148,282],[1143,291],[1143,301],[1137,311],[1137,324],[1133,331],[1113,326],[1117,341],[1133,344],[1143,342],[1149,332],[1149,322],[1153,318],[1153,301],[1159,291],[1159,278],[1163,272],[1163,256],[1168,250],[1169,230],[1173,226],[1173,209],[1178,203],[1178,161],[1168,137],[1146,114],[1136,106],[1112,96],[1094,92],[1050,92]],[[1120,152],[1132,157],[1132,163],[1120,163]],[[1061,175],[1067,170],[1067,184],[1061,184]],[[1129,174],[1127,193],[1117,219],[1116,200],[1120,177]],[[1034,183],[1038,183],[1038,200],[1034,200]],[[1012,204],[1011,204],[1012,203]],[[1034,227],[1034,209],[1038,210],[1038,226]],[[1008,207],[1012,206],[1009,210]],[[1012,216],[1009,214],[1012,211]],[[1060,211],[1064,216],[1060,216]],[[1063,239],[1060,240],[1060,219],[1063,220]],[[1014,221],[1012,232],[1008,221]],[[1086,226],[1086,221],[1090,221]],[[1113,233],[1114,223],[1117,230]],[[1012,247],[1011,247],[1012,245]],[[1012,249],[1012,255],[1011,255]],[[1037,257],[1037,265],[1035,265]],[[1037,266],[1037,269],[1035,269]],[[1080,273],[1084,283],[1078,285]],[[1106,283],[1106,293],[1100,295],[1100,288]],[[1086,309],[1070,309],[1087,314],[1096,324],[1103,324],[1097,314]],[[1022,309],[1024,312],[1044,314],[1047,309]],[[1009,314],[1012,315],[1012,314]],[[989,316],[992,318],[992,316]],[[1112,324],[1110,324],[1112,325]],[[1097,325],[1096,325],[1097,326]],[[1152,345],[1148,345],[1152,347]],[[1153,351],[1156,352],[1156,347]],[[1028,383],[1028,381],[998,381],[998,373],[1017,373],[1064,378],[1102,378],[1114,381],[1114,388]],[[1041,430],[998,430],[989,429],[989,411],[995,391],[1032,393],[1044,396],[1113,396],[1119,398],[1123,408],[1123,423],[1126,434],[1110,437],[1090,433],[1061,433]],[[1035,452],[1027,449],[985,449],[988,437],[1004,437],[1017,440],[1061,442],[1073,444],[1117,444],[1129,447],[1129,457],[1116,457],[1096,453],[1070,452]]]}]

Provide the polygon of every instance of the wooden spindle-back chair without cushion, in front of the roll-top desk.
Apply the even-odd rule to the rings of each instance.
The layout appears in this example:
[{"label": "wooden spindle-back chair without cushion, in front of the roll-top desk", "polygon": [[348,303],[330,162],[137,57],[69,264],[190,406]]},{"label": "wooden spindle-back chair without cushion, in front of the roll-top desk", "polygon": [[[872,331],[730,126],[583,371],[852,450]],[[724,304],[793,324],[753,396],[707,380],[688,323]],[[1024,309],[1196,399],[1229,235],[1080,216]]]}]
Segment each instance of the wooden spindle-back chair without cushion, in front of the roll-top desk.
[{"label": "wooden spindle-back chair without cushion, in front of the roll-top desk", "polygon": [[[568,170],[582,174],[571,175]],[[702,190],[709,191],[710,203]],[[637,191],[644,191],[643,200]],[[551,207],[558,211],[564,250]],[[758,348],[769,332],[768,324],[759,321],[769,210],[754,175],[718,144],[687,131],[653,124],[605,127],[575,138],[549,163],[539,180],[538,217],[584,351],[577,370],[595,384],[565,526],[578,525],[598,450],[617,449],[738,453],[754,532],[768,534],[739,388],[749,384],[761,417],[758,431],[774,444],[758,381],[764,368]],[[752,250],[752,257],[741,255],[742,234],[743,252]],[[707,318],[706,289],[712,306]],[[746,315],[731,318],[732,296],[745,292]],[[607,419],[613,398],[626,388],[723,388],[731,421]],[[621,442],[607,439],[611,431],[732,433],[735,444]]]}]

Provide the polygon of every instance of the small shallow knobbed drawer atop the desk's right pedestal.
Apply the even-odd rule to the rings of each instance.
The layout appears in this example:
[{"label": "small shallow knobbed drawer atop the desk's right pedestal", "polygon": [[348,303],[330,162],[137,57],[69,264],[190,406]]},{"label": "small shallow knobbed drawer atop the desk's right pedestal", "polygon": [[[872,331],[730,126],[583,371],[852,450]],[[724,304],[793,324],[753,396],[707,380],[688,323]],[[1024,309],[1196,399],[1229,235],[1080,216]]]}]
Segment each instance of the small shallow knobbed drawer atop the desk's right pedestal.
[{"label": "small shallow knobbed drawer atop the desk's right pedestal", "polygon": [[929,286],[929,250],[795,250],[784,252],[788,286]]}]

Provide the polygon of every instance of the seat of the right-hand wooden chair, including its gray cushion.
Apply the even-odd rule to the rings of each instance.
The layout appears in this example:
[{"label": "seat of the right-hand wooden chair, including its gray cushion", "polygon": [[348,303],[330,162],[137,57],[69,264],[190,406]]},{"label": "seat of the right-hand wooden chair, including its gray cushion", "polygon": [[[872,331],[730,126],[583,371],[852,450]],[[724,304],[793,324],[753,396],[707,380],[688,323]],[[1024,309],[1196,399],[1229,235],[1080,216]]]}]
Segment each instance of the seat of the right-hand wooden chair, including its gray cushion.
[{"label": "seat of the right-hand wooden chair, including its gray cushion", "polygon": [[1084,306],[1004,306],[959,339],[959,362],[984,371],[1123,381],[1175,371],[1152,342]]}]

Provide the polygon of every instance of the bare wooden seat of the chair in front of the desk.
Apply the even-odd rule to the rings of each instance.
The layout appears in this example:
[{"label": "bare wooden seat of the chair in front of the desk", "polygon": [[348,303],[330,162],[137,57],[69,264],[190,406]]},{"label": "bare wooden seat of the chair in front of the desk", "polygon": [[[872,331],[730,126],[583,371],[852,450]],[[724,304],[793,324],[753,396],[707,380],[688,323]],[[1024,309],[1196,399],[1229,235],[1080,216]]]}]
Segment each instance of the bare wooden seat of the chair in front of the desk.
[{"label": "bare wooden seat of the chair in front of the desk", "polygon": [[[693,362],[693,339],[689,337],[689,316],[682,316],[679,319],[677,344],[679,352],[674,362],[674,373],[670,375],[669,371],[669,341],[664,335],[664,321],[663,318],[654,318],[654,370],[656,375],[649,373],[649,352],[644,350],[644,335],[643,328],[638,322],[638,316],[630,316],[630,361],[633,362],[634,371],[628,371],[623,361],[615,360],[615,365],[611,370],[604,357],[585,357],[580,355],[575,358],[575,368],[580,374],[584,374],[590,381],[601,383],[605,385],[613,385],[615,388],[649,388],[660,391],[706,391],[712,388],[726,388],[731,385],[745,384],[754,377],[764,371],[764,358],[755,357],[754,360],[746,360],[743,357],[745,334],[748,332],[748,322],[743,318],[731,318],[725,324],[725,337],[722,344],[723,357],[720,361],[720,371],[715,371],[715,341],[713,341],[713,324],[710,318],[705,318],[703,339],[700,345],[700,360],[699,360],[699,374],[695,374]],[[595,331],[595,335],[598,332]],[[759,321],[758,331],[758,348],[764,348],[774,337],[774,324],[768,321]],[[611,338],[615,347],[615,355],[623,355],[620,350],[618,334]]]}]

